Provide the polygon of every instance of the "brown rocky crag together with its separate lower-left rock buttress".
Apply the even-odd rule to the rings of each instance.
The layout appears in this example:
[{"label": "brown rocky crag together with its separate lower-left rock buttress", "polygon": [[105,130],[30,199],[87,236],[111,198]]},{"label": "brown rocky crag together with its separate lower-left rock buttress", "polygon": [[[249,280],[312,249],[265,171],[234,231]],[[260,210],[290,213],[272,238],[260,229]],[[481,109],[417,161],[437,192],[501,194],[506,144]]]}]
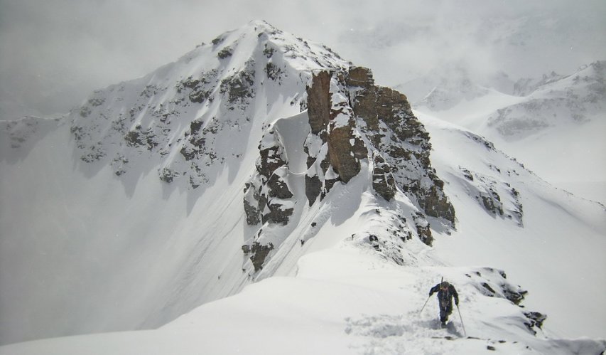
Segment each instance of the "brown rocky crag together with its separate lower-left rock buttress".
[{"label": "brown rocky crag together with its separate lower-left rock buttress", "polygon": [[[268,251],[287,238],[276,238],[276,233],[269,237],[264,228],[276,224],[288,228],[289,218],[301,213],[295,211],[296,198],[292,198],[292,191],[298,188],[289,184],[304,184],[307,204],[313,206],[335,184],[348,184],[356,176],[368,174],[362,179],[372,180],[372,191],[386,203],[400,192],[416,206],[410,221],[399,216],[404,223],[394,233],[403,235],[396,238],[398,243],[417,235],[431,245],[426,216],[454,228],[454,208],[444,194],[443,181],[431,167],[429,135],[414,117],[405,95],[374,85],[371,71],[355,66],[313,70],[305,94],[301,110],[306,114],[308,134],[299,147],[305,155],[304,180],[293,178],[286,154],[286,146],[295,143],[286,142],[280,129],[271,125],[259,145],[256,172],[244,189],[247,223],[260,226],[244,247],[251,253],[255,271],[271,256]],[[401,261],[396,254],[394,260]]]}]

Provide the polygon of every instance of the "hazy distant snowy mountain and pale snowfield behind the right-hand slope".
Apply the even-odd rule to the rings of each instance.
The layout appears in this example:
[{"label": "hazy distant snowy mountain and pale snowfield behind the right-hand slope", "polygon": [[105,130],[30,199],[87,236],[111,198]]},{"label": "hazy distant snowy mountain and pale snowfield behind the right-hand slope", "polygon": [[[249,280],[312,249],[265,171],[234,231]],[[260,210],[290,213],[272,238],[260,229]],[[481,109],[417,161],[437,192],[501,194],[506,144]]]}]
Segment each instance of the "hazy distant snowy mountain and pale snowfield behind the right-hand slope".
[{"label": "hazy distant snowy mountain and pale snowfield behind the right-hand slope", "polygon": [[[604,68],[597,61],[515,83],[447,68],[397,88],[416,90],[418,110],[487,137],[555,186],[605,203]],[[561,169],[562,160],[570,169]]]}]

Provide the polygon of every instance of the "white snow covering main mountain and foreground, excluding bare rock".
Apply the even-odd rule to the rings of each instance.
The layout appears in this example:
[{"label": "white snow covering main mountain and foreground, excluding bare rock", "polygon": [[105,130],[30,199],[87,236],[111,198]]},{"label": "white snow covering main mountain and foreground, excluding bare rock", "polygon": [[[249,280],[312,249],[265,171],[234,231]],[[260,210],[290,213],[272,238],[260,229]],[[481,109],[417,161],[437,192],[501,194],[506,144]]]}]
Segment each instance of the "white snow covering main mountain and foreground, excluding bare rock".
[{"label": "white snow covering main mountain and foreground, excluding bare rock", "polygon": [[[244,46],[233,53],[237,66],[224,66],[227,72],[251,63],[244,51],[252,51],[257,73],[263,73],[267,52],[253,46],[264,41],[263,33],[242,31],[264,26],[252,23],[222,37],[220,46],[235,46],[233,38]],[[282,45],[303,46],[283,36]],[[327,63],[345,63],[310,47],[325,53]],[[197,51],[207,58],[186,55],[158,76],[122,87],[134,85],[139,93],[148,80],[160,87],[170,81],[161,78],[168,69],[186,73],[188,60],[198,67],[218,60],[220,48]],[[396,216],[418,209],[401,191],[389,202],[374,193],[372,161],[362,159],[357,176],[308,206],[300,148],[309,127],[298,103],[310,74],[305,70],[322,65],[310,59],[312,49],[305,51],[309,58],[278,57],[286,63],[284,75],[297,80],[254,83],[245,115],[221,106],[217,92],[217,100],[203,107],[173,107],[183,109],[187,120],[203,117],[206,127],[213,116],[229,119],[224,131],[208,136],[216,138],[223,164],[209,161],[210,183],[199,181],[198,189],[177,178],[168,184],[157,174],[187,166],[179,156],[186,143],[178,138],[190,121],[172,123],[172,150],[161,159],[149,153],[155,147],[129,151],[122,175],[103,161],[83,164],[65,121],[37,120],[29,139],[3,131],[0,337],[5,344],[38,340],[0,346],[0,355],[602,354],[605,207],[554,188],[467,129],[416,112],[431,136],[432,166],[445,182],[457,222],[455,231],[431,224],[433,247],[405,240],[397,250],[403,265],[394,261],[388,231],[398,226]],[[107,110],[124,111],[119,94],[112,95],[116,100]],[[147,100],[141,95],[124,100]],[[146,115],[136,115],[134,127],[145,124]],[[28,122],[20,122],[26,129],[18,132],[29,132]],[[285,147],[290,171],[283,174],[293,186],[289,203],[296,213],[287,226],[264,227],[265,233],[288,234],[255,274],[242,253],[256,231],[245,221],[243,186],[267,127],[276,139],[293,142]],[[114,138],[101,142],[112,154],[122,149]],[[496,213],[483,206],[482,198],[490,196]],[[379,236],[377,248],[368,235]],[[460,298],[444,329],[435,295],[428,300],[442,278]],[[516,295],[526,299],[515,304]],[[546,314],[542,329],[530,312]]]}]

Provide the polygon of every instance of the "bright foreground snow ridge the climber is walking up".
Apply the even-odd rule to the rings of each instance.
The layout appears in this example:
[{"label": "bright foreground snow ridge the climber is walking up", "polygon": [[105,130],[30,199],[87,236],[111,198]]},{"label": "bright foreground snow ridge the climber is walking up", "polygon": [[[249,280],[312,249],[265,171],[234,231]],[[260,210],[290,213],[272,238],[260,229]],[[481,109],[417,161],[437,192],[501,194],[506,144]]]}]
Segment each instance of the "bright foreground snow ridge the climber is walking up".
[{"label": "bright foreground snow ridge the climber is walking up", "polygon": [[[156,330],[30,341],[2,346],[0,354],[600,354],[606,349],[606,341],[529,334],[519,307],[479,295],[465,280],[465,273],[492,269],[401,267],[369,248],[338,243],[301,258],[297,270],[296,277],[263,280]],[[420,312],[440,275],[457,282],[463,319],[453,314],[445,329],[436,318],[435,297]]]}]

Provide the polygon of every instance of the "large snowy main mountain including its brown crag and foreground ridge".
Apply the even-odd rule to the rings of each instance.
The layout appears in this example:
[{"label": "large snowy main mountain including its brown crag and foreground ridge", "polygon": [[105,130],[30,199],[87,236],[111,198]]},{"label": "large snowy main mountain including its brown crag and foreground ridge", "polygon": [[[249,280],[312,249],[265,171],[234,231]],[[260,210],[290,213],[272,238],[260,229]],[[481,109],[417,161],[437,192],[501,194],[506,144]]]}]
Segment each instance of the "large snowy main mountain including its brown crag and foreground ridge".
[{"label": "large snowy main mountain including its brown crag and foreground ridge", "polygon": [[2,127],[2,344],[160,328],[0,354],[605,349],[603,206],[268,23]]}]

